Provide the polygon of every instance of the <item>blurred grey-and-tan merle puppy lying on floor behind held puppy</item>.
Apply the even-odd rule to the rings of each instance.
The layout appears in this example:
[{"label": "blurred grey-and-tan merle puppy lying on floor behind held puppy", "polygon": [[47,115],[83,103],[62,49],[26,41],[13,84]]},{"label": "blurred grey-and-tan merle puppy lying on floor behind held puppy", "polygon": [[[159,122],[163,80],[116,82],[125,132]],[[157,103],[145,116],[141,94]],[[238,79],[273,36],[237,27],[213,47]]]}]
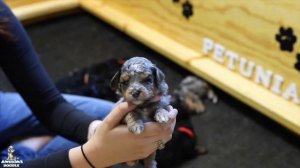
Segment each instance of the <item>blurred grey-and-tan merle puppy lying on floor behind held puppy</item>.
[{"label": "blurred grey-and-tan merle puppy lying on floor behind held puppy", "polygon": [[185,77],[180,82],[179,88],[172,94],[172,102],[181,102],[183,107],[196,114],[205,111],[205,106],[202,101],[204,98],[212,100],[213,103],[218,102],[218,97],[211,87],[205,81],[195,76]]}]

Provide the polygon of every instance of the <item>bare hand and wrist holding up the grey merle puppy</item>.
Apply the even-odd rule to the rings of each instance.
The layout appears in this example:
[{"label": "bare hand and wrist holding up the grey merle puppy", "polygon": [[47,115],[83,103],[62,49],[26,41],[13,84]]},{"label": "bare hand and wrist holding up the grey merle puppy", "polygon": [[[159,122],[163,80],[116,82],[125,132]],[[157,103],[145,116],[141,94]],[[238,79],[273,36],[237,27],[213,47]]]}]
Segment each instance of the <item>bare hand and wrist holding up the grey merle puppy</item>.
[{"label": "bare hand and wrist holding up the grey merle puppy", "polygon": [[[127,102],[118,104],[112,112],[98,124],[94,136],[83,145],[87,159],[95,167],[109,167],[118,163],[146,158],[157,150],[157,141],[164,143],[172,138],[177,110],[169,112],[170,121],[165,124],[149,122],[142,134],[129,132],[121,120],[135,108]],[[90,167],[80,151],[80,147],[69,152],[72,167]]]}]

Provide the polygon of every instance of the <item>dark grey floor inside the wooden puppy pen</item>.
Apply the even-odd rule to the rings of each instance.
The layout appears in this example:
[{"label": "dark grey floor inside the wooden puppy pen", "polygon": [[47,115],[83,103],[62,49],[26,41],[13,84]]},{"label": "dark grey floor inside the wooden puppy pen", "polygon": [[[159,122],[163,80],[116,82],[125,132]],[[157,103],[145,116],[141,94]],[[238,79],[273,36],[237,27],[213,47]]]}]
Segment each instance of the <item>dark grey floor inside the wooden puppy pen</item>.
[{"label": "dark grey floor inside the wooden puppy pen", "polygon": [[[53,80],[74,68],[111,57],[145,56],[166,74],[171,90],[187,74],[160,54],[87,13],[40,22],[26,29]],[[159,39],[158,39],[159,41]],[[6,84],[2,88],[10,89]],[[184,168],[299,168],[300,138],[216,88],[219,103],[192,118],[209,153]]]}]

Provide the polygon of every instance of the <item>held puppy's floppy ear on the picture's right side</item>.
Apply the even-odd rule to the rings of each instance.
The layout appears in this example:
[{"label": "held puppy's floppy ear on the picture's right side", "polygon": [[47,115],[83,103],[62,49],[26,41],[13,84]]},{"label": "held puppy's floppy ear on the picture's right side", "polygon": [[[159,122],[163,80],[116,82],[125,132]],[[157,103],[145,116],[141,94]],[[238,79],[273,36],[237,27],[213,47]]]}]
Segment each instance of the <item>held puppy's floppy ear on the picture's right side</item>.
[{"label": "held puppy's floppy ear on the picture's right side", "polygon": [[167,94],[168,92],[168,85],[165,82],[165,75],[164,73],[157,67],[153,67],[152,73],[154,76],[154,83],[155,86],[158,88],[161,94]]}]

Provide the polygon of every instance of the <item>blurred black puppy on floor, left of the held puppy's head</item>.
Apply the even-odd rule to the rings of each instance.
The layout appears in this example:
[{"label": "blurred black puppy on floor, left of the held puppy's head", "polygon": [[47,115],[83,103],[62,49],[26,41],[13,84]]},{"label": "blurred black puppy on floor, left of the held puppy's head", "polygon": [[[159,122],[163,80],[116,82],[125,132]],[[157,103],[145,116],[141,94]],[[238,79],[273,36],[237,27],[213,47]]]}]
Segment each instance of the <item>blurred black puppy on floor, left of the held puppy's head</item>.
[{"label": "blurred black puppy on floor, left of the held puppy's head", "polygon": [[118,101],[119,96],[110,88],[110,79],[124,62],[125,58],[112,58],[80,70],[75,69],[69,72],[66,77],[58,80],[55,83],[56,87],[62,93],[101,98],[113,102]]}]

